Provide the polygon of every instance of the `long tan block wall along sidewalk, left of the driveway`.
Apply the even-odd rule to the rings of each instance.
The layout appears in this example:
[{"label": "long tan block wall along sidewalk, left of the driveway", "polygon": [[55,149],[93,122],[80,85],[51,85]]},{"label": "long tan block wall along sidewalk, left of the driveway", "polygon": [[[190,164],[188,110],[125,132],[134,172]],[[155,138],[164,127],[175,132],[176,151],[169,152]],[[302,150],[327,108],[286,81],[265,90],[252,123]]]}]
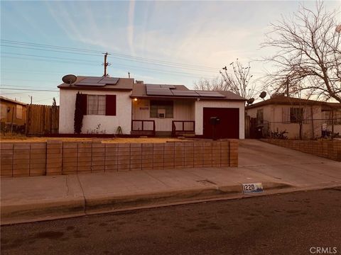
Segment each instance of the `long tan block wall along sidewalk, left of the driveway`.
[{"label": "long tan block wall along sidewalk, left of the driveway", "polygon": [[238,140],[166,143],[1,142],[1,176],[238,166]]}]

